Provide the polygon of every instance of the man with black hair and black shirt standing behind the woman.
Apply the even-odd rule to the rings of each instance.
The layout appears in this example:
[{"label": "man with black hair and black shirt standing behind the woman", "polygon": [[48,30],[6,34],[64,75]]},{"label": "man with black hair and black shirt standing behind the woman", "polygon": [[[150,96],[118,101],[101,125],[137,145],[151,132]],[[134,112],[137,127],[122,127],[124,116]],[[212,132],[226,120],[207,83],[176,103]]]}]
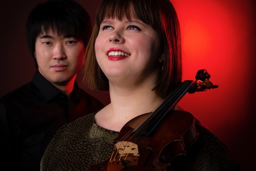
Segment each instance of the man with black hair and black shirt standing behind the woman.
[{"label": "man with black hair and black shirt standing behind the woman", "polygon": [[76,83],[90,33],[89,15],[73,0],[49,0],[29,14],[26,36],[37,71],[0,98],[1,168],[40,170],[55,132],[103,107]]}]

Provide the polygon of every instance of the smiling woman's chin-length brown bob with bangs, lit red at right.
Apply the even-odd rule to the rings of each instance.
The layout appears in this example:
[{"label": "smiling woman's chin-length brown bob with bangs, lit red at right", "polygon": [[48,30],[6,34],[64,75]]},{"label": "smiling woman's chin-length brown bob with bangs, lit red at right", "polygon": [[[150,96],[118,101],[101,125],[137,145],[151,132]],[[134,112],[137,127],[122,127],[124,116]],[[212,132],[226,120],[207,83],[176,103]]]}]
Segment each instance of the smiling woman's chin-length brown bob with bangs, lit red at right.
[{"label": "smiling woman's chin-length brown bob with bangs, lit red at right", "polygon": [[[131,8],[129,8],[131,7]],[[95,54],[95,40],[105,18],[135,18],[150,25],[160,37],[164,54],[163,68],[154,91],[165,98],[181,82],[182,63],[180,25],[175,8],[169,0],[103,0],[87,46],[84,82],[93,90],[109,90],[108,78],[100,69]]]}]

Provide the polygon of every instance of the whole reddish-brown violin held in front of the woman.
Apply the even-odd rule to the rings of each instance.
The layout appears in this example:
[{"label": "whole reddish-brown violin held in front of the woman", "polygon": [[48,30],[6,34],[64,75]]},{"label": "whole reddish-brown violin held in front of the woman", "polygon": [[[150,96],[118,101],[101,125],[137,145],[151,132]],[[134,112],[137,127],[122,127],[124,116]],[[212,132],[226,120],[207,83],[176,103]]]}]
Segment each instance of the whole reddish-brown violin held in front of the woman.
[{"label": "whole reddish-brown violin held in front of the woman", "polygon": [[[150,113],[139,115],[125,124],[113,140],[115,150],[103,163],[90,165],[87,171],[166,171],[171,161],[196,141],[195,118],[189,112],[174,110],[187,93],[217,88],[207,70],[198,70],[196,80],[183,81]],[[201,80],[201,81],[198,81]]]}]

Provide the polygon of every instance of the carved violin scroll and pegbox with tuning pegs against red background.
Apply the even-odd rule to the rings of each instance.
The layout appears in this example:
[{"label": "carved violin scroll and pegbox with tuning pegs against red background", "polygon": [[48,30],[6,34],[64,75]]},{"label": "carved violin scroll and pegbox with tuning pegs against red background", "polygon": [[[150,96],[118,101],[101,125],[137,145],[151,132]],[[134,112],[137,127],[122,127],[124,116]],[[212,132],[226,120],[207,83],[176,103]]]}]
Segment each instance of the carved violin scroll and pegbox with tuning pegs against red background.
[{"label": "carved violin scroll and pegbox with tuning pegs against red background", "polygon": [[209,81],[209,78],[211,78],[211,75],[209,75],[207,70],[198,70],[195,76],[195,84],[193,84],[188,93],[192,94],[195,92],[207,91],[208,89],[218,88],[218,85],[212,84],[212,82]]}]

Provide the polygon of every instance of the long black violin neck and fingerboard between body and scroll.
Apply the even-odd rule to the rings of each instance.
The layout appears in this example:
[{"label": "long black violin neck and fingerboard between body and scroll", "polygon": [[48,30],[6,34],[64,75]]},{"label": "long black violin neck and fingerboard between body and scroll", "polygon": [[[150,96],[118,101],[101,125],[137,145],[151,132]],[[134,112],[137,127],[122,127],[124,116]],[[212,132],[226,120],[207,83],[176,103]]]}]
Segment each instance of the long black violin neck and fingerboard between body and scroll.
[{"label": "long black violin neck and fingerboard between body and scroll", "polygon": [[181,98],[189,91],[189,88],[193,83],[194,81],[192,80],[183,81],[164,99],[164,101],[159,105],[159,107],[157,107],[157,109],[154,110],[154,112],[151,112],[146,121],[144,121],[140,127],[135,129],[131,135],[142,134],[149,136],[165,118],[166,114],[175,108]]}]

